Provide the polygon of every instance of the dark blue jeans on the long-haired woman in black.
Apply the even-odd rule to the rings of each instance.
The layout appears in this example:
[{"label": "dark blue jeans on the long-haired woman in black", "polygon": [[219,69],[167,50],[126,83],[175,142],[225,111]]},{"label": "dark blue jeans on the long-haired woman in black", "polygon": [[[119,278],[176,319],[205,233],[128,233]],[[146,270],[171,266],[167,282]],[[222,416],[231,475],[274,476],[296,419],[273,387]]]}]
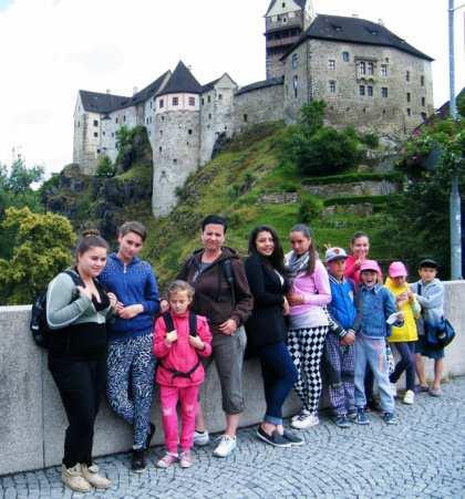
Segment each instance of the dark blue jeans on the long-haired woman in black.
[{"label": "dark blue jeans on the long-haired woman in black", "polygon": [[285,342],[265,345],[257,350],[264,377],[267,412],[264,420],[282,425],[282,405],[297,382],[298,372]]}]

